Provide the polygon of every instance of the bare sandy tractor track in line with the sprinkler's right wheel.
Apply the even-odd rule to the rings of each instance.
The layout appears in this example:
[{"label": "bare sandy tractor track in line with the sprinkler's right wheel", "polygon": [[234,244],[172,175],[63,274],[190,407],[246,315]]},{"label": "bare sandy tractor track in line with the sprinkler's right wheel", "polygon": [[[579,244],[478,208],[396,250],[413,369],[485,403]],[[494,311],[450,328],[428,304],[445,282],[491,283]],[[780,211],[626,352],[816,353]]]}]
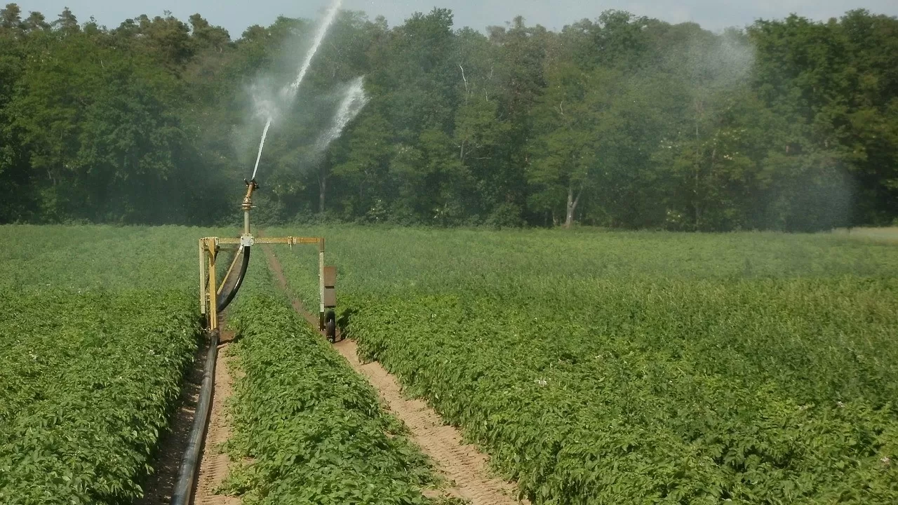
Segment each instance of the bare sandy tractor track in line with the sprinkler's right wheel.
[{"label": "bare sandy tractor track in line with the sprinkler's right wheel", "polygon": [[[274,274],[278,286],[288,294],[291,305],[297,313],[303,315],[314,328],[317,328],[318,317],[308,313],[301,301],[289,296],[287,280],[280,261],[270,247],[263,246],[263,250],[269,269]],[[374,386],[386,404],[388,412],[405,423],[411,433],[411,439],[430,457],[440,474],[452,486],[437,493],[428,491],[428,496],[448,495],[470,501],[472,505],[529,503],[516,500],[517,489],[514,483],[506,483],[491,476],[488,456],[480,452],[476,446],[463,443],[461,431],[446,425],[443,418],[426,402],[406,398],[402,394],[399,381],[379,362],[363,364],[358,359],[355,341],[339,340],[334,344],[334,349],[358,374]]]}]

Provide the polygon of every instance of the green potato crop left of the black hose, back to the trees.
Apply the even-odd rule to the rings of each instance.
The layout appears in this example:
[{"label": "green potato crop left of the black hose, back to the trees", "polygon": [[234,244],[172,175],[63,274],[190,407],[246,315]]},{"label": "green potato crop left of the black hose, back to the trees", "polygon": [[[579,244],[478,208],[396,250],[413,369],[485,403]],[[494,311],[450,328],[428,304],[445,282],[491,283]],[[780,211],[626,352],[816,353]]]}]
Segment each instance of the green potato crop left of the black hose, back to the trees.
[{"label": "green potato crop left of the black hose, back to the trees", "polygon": [[0,226],[0,502],[129,503],[198,345],[178,226]]}]

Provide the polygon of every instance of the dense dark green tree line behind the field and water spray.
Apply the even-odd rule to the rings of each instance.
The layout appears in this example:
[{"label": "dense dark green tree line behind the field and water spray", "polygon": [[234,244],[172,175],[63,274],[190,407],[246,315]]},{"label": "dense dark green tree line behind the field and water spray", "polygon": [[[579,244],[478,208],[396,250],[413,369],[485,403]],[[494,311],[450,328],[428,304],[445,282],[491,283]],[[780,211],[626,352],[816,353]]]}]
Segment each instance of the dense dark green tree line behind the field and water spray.
[{"label": "dense dark green tree line behind the field and water spray", "polygon": [[[3,222],[225,224],[316,26],[0,10]],[[339,90],[365,109],[321,151]],[[621,11],[485,33],[342,11],[260,162],[258,217],[687,231],[898,219],[898,18],[702,30]]]}]

